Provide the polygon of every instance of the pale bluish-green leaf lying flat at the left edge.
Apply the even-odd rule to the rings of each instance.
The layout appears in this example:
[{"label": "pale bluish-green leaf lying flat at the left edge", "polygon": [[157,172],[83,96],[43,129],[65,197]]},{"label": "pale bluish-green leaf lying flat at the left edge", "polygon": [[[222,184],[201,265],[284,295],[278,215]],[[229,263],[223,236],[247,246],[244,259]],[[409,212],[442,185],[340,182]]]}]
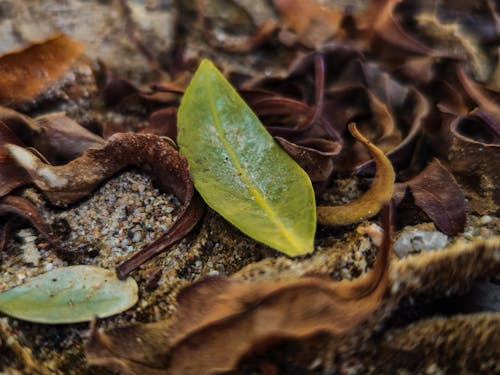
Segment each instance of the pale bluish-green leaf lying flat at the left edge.
[{"label": "pale bluish-green leaf lying flat at the left edge", "polygon": [[87,322],[127,310],[137,302],[134,279],[118,280],[94,266],[58,268],[0,294],[0,311],[36,323]]}]

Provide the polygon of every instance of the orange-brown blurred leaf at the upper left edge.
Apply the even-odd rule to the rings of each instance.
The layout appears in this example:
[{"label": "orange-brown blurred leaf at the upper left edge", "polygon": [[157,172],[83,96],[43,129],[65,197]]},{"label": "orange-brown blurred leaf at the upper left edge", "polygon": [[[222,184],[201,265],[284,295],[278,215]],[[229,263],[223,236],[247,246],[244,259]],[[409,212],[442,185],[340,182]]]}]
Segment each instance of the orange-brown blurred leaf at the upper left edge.
[{"label": "orange-brown blurred leaf at the upper left edge", "polygon": [[0,56],[0,103],[34,99],[68,71],[82,52],[82,44],[61,34]]}]

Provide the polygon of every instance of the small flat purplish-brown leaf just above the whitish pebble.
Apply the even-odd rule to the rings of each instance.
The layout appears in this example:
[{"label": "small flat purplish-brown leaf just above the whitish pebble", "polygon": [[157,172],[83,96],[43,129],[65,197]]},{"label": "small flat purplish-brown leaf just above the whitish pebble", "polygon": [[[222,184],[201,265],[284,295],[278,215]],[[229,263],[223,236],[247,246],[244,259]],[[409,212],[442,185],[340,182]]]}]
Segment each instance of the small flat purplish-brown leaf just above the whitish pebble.
[{"label": "small flat purplish-brown leaf just above the whitish pebble", "polygon": [[439,230],[450,236],[463,232],[466,219],[465,196],[453,175],[434,159],[420,174],[408,181],[419,206]]}]

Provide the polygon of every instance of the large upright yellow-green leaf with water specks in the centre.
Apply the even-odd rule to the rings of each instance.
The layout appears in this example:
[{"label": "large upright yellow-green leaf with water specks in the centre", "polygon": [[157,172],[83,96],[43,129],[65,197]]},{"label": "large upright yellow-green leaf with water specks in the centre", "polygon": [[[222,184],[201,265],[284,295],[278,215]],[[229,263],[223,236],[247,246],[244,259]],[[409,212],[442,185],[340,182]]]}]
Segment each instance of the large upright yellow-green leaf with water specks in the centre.
[{"label": "large upright yellow-green leaf with water specks in the centre", "polygon": [[313,250],[316,205],[309,177],[208,60],[182,98],[177,125],[181,153],[210,207],[285,254]]}]

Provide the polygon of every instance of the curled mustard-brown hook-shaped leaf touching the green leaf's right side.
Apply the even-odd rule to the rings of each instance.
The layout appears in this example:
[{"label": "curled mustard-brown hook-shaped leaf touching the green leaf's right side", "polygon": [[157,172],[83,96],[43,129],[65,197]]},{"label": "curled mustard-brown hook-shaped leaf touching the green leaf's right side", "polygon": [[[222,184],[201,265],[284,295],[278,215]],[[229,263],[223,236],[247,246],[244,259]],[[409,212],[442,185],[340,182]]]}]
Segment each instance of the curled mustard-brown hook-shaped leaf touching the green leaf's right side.
[{"label": "curled mustard-brown hook-shaped leaf touching the green leaf's right side", "polygon": [[370,188],[354,201],[341,206],[317,207],[318,222],[323,225],[348,225],[373,217],[391,200],[394,192],[395,174],[389,159],[354,124],[349,125],[349,130],[372,154],[377,166],[375,178]]}]

